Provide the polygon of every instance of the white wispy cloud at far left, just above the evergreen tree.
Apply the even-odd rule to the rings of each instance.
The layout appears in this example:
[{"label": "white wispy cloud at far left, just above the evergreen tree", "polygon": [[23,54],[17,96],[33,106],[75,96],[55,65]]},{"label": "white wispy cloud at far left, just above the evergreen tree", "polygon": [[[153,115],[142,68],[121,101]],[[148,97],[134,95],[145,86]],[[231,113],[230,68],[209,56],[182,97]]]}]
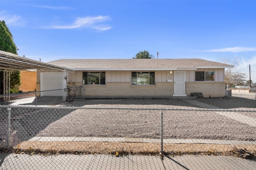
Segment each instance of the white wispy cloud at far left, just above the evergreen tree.
[{"label": "white wispy cloud at far left, just above the evergreen tree", "polygon": [[6,25],[24,25],[24,20],[21,16],[7,14],[6,11],[0,12],[0,20],[4,20]]}]

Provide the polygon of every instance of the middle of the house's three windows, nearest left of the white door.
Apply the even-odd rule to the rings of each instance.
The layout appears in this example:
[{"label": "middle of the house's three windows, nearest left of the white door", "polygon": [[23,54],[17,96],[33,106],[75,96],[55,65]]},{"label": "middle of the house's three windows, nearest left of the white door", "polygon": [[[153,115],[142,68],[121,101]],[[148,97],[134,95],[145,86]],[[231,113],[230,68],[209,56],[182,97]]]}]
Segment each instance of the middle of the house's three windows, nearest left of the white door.
[{"label": "middle of the house's three windows, nearest left of the white door", "polygon": [[155,72],[132,72],[132,84],[154,85]]}]

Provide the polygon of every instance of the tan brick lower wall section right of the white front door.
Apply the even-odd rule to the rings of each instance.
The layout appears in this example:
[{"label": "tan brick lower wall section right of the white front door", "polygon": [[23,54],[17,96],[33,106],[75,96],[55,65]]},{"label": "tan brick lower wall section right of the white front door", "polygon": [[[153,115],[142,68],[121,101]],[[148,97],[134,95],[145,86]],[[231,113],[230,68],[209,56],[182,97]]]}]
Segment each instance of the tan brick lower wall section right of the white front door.
[{"label": "tan brick lower wall section right of the white front door", "polygon": [[225,82],[186,82],[186,94],[202,92],[204,98],[225,96]]}]

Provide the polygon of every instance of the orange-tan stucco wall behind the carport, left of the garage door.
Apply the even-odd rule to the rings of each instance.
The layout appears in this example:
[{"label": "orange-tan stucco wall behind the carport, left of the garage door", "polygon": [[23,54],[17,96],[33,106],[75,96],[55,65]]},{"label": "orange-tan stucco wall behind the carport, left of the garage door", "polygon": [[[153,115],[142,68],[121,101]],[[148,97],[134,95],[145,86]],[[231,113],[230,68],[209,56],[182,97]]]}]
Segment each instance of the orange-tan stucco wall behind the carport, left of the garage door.
[{"label": "orange-tan stucco wall behind the carport, left of the garage door", "polygon": [[21,72],[20,80],[19,90],[23,92],[33,92],[36,90],[36,72]]}]

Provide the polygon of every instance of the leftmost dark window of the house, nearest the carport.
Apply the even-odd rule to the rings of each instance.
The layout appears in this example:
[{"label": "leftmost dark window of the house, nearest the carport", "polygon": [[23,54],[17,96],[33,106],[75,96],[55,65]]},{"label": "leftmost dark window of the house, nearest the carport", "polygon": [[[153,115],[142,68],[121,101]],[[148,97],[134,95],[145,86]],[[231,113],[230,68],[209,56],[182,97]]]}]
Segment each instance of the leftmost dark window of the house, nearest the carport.
[{"label": "leftmost dark window of the house, nearest the carport", "polygon": [[105,72],[83,72],[83,84],[105,84]]}]

